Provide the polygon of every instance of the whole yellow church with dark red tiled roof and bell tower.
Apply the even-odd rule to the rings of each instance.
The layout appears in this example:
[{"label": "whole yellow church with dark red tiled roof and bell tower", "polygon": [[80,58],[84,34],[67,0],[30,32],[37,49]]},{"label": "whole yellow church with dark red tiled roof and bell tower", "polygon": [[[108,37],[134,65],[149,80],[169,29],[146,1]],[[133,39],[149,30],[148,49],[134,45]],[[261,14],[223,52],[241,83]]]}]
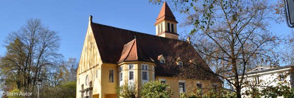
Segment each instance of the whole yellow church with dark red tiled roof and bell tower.
[{"label": "whole yellow church with dark red tiled roof and bell tower", "polygon": [[[89,18],[77,69],[76,98],[118,98],[115,88],[124,81],[141,87],[148,81],[161,80],[171,87],[172,98],[179,98],[179,93],[195,85],[200,88],[221,86],[221,79],[211,74],[199,79],[174,78],[183,62],[168,63],[167,57],[180,49],[191,51],[201,66],[211,69],[193,47],[188,47],[191,44],[178,40],[178,22],[166,2],[154,24],[156,35],[93,23],[92,18]],[[184,44],[175,48],[176,43],[171,42]],[[167,64],[178,67],[166,69]]]}]

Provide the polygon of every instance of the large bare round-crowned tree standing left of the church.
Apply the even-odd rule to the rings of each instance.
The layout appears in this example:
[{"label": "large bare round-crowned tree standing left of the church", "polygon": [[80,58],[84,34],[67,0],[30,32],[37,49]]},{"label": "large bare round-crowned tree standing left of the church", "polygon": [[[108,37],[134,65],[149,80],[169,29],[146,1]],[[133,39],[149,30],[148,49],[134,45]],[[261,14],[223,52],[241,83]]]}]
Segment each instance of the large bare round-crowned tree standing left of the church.
[{"label": "large bare round-crowned tree standing left of the church", "polygon": [[0,58],[0,77],[19,89],[35,86],[38,79],[46,79],[46,70],[61,61],[57,52],[60,40],[58,32],[43,25],[41,19],[28,19],[4,41],[7,51]]}]

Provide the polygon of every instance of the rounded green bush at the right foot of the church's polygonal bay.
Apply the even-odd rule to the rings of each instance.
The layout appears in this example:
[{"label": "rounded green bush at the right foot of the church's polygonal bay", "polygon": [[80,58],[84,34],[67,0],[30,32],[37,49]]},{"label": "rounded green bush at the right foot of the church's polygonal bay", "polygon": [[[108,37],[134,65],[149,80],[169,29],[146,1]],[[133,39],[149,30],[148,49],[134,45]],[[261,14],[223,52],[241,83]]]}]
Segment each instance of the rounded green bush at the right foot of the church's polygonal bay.
[{"label": "rounded green bush at the right foot of the church's polygonal bay", "polygon": [[170,98],[172,95],[171,89],[168,84],[161,83],[160,81],[149,81],[142,87],[142,94],[144,98]]}]

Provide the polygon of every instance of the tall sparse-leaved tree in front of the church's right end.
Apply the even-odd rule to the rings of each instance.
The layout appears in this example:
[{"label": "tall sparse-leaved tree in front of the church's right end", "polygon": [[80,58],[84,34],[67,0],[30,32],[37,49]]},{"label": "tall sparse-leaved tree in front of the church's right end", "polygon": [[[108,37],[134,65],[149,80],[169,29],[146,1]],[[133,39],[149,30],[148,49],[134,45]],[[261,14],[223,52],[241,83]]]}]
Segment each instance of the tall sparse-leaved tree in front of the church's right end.
[{"label": "tall sparse-leaved tree in front of the church's right end", "polygon": [[[256,64],[279,66],[275,48],[280,38],[268,30],[271,23],[279,20],[276,6],[268,0],[172,0],[170,3],[175,10],[187,16],[181,26],[193,27],[187,36],[191,37],[189,42],[214,71],[206,72],[233,85],[237,98],[241,98],[246,71]],[[179,56],[173,57],[180,57],[186,67],[180,69],[182,74],[177,77],[199,79],[195,77],[199,73],[193,70],[203,64],[191,63],[190,60],[195,58],[180,54],[183,53],[179,51],[175,54]],[[176,60],[170,59],[171,62]]]}]

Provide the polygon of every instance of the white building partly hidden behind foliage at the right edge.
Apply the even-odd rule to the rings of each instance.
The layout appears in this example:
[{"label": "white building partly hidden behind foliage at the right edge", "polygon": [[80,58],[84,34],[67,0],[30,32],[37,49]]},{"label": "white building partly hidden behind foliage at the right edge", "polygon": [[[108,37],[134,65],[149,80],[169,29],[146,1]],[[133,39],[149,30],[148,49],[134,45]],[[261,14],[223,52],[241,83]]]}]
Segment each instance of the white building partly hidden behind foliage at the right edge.
[{"label": "white building partly hidden behind foliage at the right edge", "polygon": [[[287,82],[287,84],[291,87],[294,87],[292,81],[294,81],[294,74],[290,74],[291,66],[283,66],[283,67],[270,67],[269,65],[258,65],[254,67],[252,70],[247,71],[244,75],[243,82],[248,82],[249,85],[257,86],[261,89],[264,86],[277,86],[279,82]],[[289,75],[287,75],[289,74]],[[234,78],[230,78],[233,80]],[[239,76],[239,80],[241,76]],[[234,81],[233,81],[234,83]],[[245,85],[242,85],[244,87]],[[245,91],[248,90],[249,87],[244,87],[241,90],[241,94],[245,94]],[[242,95],[242,98],[250,98],[245,95]],[[283,97],[278,97],[283,98]]]}]

